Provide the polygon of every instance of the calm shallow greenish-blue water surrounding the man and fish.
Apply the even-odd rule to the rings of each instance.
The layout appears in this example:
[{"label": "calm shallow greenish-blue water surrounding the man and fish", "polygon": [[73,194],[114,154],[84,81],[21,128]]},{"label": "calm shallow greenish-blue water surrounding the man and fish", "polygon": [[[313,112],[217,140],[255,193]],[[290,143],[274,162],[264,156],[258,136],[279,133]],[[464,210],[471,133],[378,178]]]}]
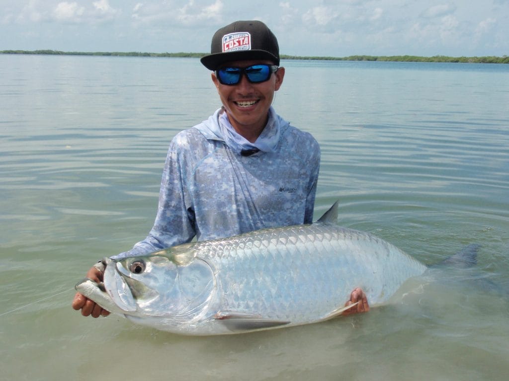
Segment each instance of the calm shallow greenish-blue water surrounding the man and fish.
[{"label": "calm shallow greenish-blue water surrounding the man and fish", "polygon": [[[282,61],[274,106],[322,147],[315,216],[426,264],[361,316],[184,337],[70,308],[99,258],[151,228],[169,140],[218,97],[197,59],[0,55],[2,377],[505,379],[509,66]],[[59,294],[60,293],[60,294]],[[0,378],[2,378],[0,377]]]}]

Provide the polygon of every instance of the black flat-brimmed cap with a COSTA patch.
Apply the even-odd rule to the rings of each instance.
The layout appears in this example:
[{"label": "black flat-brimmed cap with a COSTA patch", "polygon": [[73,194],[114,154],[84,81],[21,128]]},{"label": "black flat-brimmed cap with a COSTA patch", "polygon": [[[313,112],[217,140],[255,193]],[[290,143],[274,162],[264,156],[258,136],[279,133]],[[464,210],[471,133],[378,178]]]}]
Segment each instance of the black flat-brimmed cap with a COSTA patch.
[{"label": "black flat-brimmed cap with a COSTA patch", "polygon": [[217,30],[210,54],[201,61],[207,69],[216,70],[224,62],[248,59],[267,59],[279,66],[276,36],[261,21],[235,21]]}]

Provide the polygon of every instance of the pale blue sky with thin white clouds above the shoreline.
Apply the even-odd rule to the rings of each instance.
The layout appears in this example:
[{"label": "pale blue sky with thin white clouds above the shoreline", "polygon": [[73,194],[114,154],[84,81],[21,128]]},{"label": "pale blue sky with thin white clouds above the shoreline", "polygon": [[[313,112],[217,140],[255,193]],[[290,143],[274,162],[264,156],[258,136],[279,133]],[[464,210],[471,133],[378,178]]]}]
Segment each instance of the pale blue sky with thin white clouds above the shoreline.
[{"label": "pale blue sky with thin white clouds above the shoreline", "polygon": [[509,55],[509,0],[0,0],[0,50],[209,52],[261,20],[281,54]]}]

